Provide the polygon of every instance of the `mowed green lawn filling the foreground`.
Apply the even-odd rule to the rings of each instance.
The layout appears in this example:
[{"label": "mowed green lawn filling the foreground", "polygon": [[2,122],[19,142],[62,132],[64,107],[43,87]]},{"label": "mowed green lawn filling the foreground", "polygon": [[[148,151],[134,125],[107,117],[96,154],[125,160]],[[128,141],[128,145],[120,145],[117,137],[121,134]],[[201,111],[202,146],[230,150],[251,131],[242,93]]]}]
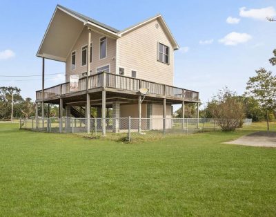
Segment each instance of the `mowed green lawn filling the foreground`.
[{"label": "mowed green lawn filling the foreground", "polygon": [[0,124],[0,216],[276,216],[276,149],[257,130],[125,144]]}]

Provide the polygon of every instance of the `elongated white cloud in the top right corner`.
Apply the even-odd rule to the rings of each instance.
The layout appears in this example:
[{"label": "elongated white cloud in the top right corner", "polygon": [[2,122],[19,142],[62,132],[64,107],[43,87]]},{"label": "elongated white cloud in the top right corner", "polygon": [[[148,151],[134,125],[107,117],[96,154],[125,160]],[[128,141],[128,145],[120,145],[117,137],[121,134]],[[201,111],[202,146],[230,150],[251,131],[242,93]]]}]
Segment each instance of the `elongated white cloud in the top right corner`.
[{"label": "elongated white cloud in the top right corner", "polygon": [[274,17],[276,10],[273,7],[250,9],[246,10],[246,7],[239,8],[239,16],[250,17],[253,19],[266,20],[266,17]]}]

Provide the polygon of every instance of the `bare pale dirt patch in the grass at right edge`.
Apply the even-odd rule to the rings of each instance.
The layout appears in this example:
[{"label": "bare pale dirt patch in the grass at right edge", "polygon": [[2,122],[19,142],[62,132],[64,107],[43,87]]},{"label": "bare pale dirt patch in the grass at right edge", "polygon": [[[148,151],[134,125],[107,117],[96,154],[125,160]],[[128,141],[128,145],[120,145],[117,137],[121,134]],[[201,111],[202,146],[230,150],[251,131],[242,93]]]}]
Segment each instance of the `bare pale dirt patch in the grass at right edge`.
[{"label": "bare pale dirt patch in the grass at right edge", "polygon": [[226,144],[242,144],[253,147],[276,147],[276,132],[256,132],[244,135]]}]

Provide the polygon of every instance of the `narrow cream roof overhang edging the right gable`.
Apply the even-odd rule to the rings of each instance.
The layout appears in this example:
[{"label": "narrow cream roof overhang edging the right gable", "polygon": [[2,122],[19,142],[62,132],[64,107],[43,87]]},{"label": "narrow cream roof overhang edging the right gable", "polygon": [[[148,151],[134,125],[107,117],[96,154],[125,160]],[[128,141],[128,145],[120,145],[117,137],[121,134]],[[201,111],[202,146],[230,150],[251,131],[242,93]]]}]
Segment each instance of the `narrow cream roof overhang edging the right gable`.
[{"label": "narrow cream roof overhang edging the right gable", "polygon": [[175,40],[175,37],[173,37],[172,32],[170,32],[170,28],[168,28],[168,25],[167,25],[166,21],[164,20],[164,18],[161,15],[156,15],[155,17],[151,17],[149,19],[146,19],[145,21],[142,21],[141,23],[137,23],[135,26],[130,26],[129,28],[126,28],[125,30],[121,30],[120,32],[118,32],[118,35],[119,35],[119,37],[122,37],[123,35],[127,34],[128,32],[131,32],[132,30],[140,28],[141,26],[144,26],[147,23],[150,23],[151,21],[154,21],[155,19],[157,19],[161,23],[161,25],[163,26],[164,31],[166,32],[168,38],[170,39],[170,41],[172,43],[173,49],[178,50],[179,45],[177,44],[177,41]]}]

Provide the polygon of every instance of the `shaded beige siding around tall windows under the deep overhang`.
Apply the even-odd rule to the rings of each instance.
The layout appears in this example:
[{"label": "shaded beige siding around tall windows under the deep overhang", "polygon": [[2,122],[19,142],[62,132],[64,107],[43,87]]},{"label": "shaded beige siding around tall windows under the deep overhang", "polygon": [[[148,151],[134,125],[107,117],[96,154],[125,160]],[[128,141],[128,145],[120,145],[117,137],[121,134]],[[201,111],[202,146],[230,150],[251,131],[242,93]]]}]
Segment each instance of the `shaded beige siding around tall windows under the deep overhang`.
[{"label": "shaded beige siding around tall windows under the deep overhang", "polygon": [[[115,73],[116,60],[116,40],[107,37],[107,55],[105,59],[99,59],[99,38],[104,35],[100,35],[97,32],[92,32],[91,42],[92,42],[92,64],[90,64],[90,70],[92,74],[96,73],[96,68],[101,66],[106,66],[110,64],[110,73]],[[83,28],[79,39],[77,39],[75,45],[70,51],[70,55],[66,59],[66,82],[69,81],[70,75],[81,75],[81,73],[86,72],[87,66],[81,66],[81,48],[86,46],[88,43],[88,30]],[[71,53],[76,51],[76,69],[71,70]]]}]

